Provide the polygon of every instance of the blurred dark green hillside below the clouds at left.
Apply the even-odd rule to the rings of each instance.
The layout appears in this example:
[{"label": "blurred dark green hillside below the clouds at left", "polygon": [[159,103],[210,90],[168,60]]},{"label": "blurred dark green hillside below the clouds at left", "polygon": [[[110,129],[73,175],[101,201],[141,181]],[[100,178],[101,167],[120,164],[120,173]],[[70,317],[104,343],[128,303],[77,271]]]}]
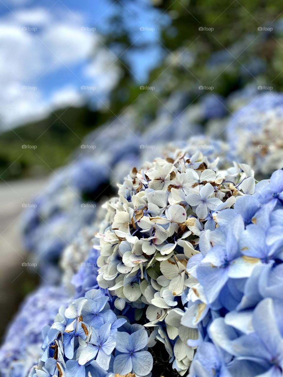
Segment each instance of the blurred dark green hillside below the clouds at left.
[{"label": "blurred dark green hillside below the clouds at left", "polygon": [[6,180],[50,173],[104,120],[103,114],[87,107],[61,109],[47,119],[2,133],[0,176]]}]

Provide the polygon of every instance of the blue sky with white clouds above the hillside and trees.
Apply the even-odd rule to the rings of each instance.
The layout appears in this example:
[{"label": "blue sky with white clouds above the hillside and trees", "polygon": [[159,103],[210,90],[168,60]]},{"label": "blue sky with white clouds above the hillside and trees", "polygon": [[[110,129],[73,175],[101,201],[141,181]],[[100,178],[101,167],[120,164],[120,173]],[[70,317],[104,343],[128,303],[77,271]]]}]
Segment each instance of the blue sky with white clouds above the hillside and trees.
[{"label": "blue sky with white clouds above the hillside and trees", "polygon": [[[47,116],[65,106],[81,106],[90,97],[108,106],[108,94],[128,61],[133,80],[145,84],[149,71],[164,56],[160,28],[169,23],[150,0],[2,0],[0,2],[0,129]],[[122,9],[122,11],[121,11]],[[133,46],[109,51],[103,34],[119,32],[108,22],[123,15]],[[140,29],[141,28],[141,29]]]}]

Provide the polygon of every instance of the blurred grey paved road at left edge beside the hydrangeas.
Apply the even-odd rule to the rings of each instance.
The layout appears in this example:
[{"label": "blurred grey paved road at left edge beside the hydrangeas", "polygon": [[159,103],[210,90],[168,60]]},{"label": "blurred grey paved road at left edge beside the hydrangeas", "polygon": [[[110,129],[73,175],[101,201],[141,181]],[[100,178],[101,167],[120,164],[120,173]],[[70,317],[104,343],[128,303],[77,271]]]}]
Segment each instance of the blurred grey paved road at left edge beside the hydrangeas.
[{"label": "blurred grey paved road at left edge beside the hydrangeas", "polygon": [[27,271],[22,267],[25,251],[21,243],[21,220],[25,208],[45,185],[45,179],[25,179],[0,182],[0,307],[4,309],[0,322],[0,337],[18,307]]}]

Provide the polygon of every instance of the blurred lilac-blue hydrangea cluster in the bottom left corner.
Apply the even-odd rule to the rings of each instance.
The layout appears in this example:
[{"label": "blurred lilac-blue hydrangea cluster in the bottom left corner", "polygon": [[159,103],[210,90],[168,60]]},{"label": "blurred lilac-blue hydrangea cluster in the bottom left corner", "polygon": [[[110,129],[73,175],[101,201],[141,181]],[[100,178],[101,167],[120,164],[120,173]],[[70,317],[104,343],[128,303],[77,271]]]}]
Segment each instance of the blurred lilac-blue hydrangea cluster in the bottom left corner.
[{"label": "blurred lilac-blue hydrangea cluster in the bottom left corner", "polygon": [[42,329],[51,326],[60,305],[68,304],[62,287],[41,287],[23,302],[0,348],[2,377],[26,377],[42,354]]}]

